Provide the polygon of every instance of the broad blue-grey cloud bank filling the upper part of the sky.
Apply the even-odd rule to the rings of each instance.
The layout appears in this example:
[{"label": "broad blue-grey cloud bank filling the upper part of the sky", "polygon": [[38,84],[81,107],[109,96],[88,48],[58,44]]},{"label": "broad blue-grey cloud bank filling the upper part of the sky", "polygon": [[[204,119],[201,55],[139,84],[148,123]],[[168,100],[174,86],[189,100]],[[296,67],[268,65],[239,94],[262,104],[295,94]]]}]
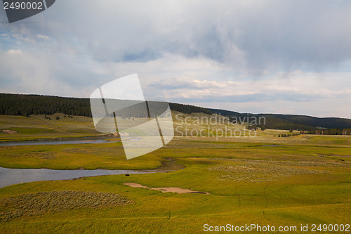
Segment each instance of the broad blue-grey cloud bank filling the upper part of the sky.
[{"label": "broad blue-grey cloud bank filling the upper part of the sky", "polygon": [[48,34],[58,49],[78,47],[100,62],[178,53],[243,70],[321,71],[351,59],[350,15],[350,1],[77,0],[11,28]]}]

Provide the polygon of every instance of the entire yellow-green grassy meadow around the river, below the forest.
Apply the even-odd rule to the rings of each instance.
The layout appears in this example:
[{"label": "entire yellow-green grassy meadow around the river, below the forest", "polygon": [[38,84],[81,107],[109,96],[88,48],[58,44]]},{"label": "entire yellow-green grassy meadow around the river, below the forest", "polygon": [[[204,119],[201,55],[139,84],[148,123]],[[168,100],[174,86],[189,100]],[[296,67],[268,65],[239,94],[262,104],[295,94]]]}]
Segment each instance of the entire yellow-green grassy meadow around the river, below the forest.
[{"label": "entire yellow-green grassy meadow around the river, below the forest", "polygon": [[[195,116],[183,116],[190,117],[188,127],[206,131],[204,124],[192,124]],[[1,133],[0,141],[98,134],[89,118],[51,118],[0,115],[0,129],[18,132]],[[176,120],[175,127],[181,124],[185,127]],[[249,133],[245,126],[227,127]],[[223,128],[225,123],[211,125],[211,129]],[[185,133],[183,128],[178,130]],[[183,169],[166,173],[0,188],[0,233],[205,233],[204,224],[228,223],[296,226],[297,231],[285,233],[320,233],[302,232],[300,225],[350,225],[350,136],[280,138],[278,134],[288,131],[267,129],[256,131],[255,137],[216,138],[186,137],[180,132],[164,148],[132,160],[126,160],[119,141],[0,146],[0,167],[6,168],[154,169],[169,159],[183,165]],[[162,193],[124,183],[209,194]]]}]

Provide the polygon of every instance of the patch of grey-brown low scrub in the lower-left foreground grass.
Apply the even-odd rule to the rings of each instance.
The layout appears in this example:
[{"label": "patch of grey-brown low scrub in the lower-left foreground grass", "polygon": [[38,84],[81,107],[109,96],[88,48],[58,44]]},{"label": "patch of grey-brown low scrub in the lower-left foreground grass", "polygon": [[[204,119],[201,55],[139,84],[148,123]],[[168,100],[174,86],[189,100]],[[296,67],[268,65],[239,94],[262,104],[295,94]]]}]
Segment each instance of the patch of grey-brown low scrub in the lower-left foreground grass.
[{"label": "patch of grey-brown low scrub in the lower-left foreground grass", "polygon": [[117,206],[132,202],[114,193],[86,191],[27,193],[0,200],[0,222],[10,221],[20,216],[62,212],[81,207]]}]

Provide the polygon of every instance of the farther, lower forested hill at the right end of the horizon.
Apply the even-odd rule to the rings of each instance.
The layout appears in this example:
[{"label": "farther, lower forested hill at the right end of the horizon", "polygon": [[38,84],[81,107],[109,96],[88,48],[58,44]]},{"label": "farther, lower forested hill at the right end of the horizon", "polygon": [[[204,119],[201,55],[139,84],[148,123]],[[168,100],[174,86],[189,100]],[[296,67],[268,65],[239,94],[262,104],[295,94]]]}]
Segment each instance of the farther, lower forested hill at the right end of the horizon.
[{"label": "farther, lower forested hill at the right end of the horizon", "polygon": [[213,113],[218,115],[224,115],[230,117],[231,119],[252,119],[259,117],[265,117],[265,123],[258,123],[258,125],[265,125],[268,129],[284,129],[284,130],[302,130],[302,131],[312,131],[316,128],[326,128],[326,129],[351,129],[351,119],[343,118],[319,118],[311,117],[306,115],[279,115],[279,114],[244,114],[233,112],[229,110],[220,109],[208,109]]}]

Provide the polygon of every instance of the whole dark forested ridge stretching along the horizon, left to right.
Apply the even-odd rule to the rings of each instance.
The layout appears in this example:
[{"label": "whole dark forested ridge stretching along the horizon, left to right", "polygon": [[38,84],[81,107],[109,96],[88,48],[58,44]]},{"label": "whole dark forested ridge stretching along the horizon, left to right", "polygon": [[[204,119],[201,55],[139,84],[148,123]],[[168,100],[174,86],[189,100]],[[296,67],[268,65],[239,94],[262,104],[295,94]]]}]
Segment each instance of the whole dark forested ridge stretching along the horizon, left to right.
[{"label": "whole dark forested ridge stretching along the horizon, left to right", "polygon": [[[231,121],[237,120],[237,122],[247,122],[247,119],[264,117],[265,122],[253,124],[263,129],[311,132],[317,129],[351,129],[351,119],[319,118],[305,115],[244,114],[230,110],[200,108],[179,103],[169,103],[169,105],[173,111],[185,114],[203,112],[211,115],[216,113],[230,117]],[[29,115],[53,115],[55,113],[91,117],[90,100],[89,98],[0,93],[0,115],[22,115],[28,117]]]}]

